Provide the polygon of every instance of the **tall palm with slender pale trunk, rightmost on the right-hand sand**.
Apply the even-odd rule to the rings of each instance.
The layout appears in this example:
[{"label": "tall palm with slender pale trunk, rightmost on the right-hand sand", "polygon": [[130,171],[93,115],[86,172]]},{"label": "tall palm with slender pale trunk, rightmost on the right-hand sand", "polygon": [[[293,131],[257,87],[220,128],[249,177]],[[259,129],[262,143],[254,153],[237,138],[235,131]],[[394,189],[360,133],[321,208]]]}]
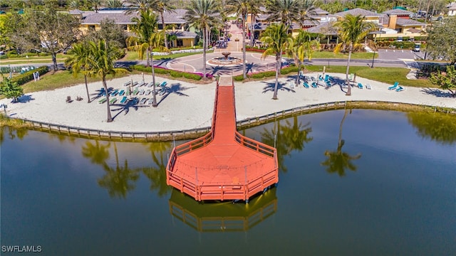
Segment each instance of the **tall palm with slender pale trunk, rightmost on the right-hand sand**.
[{"label": "tall palm with slender pale trunk, rightmost on the right-hand sand", "polygon": [[351,85],[348,80],[348,72],[350,70],[351,53],[353,50],[360,48],[366,37],[371,31],[375,30],[375,24],[371,22],[364,22],[364,16],[358,15],[353,16],[347,14],[341,21],[334,23],[334,26],[338,28],[339,38],[341,43],[338,43],[334,48],[334,53],[339,53],[341,50],[348,48],[348,60],[346,70],[346,82],[348,85],[348,91],[346,95],[351,95]]}]

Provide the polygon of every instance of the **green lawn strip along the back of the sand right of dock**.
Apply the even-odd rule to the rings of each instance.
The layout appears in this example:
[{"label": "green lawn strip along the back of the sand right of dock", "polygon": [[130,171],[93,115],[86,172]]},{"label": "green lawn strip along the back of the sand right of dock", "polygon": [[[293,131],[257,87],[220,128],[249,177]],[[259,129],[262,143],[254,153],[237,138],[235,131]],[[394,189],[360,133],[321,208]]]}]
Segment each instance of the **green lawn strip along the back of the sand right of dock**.
[{"label": "green lawn strip along the back of the sand right of dock", "polygon": [[[314,72],[323,72],[323,66],[311,65],[306,66],[306,70]],[[330,73],[346,73],[346,66],[331,65],[326,68],[326,72]],[[362,78],[368,78],[379,82],[386,82],[393,85],[394,82],[399,82],[400,85],[412,87],[437,87],[429,80],[408,80],[406,75],[410,72],[408,68],[369,68],[362,66],[350,67],[350,73],[355,73]]]}]

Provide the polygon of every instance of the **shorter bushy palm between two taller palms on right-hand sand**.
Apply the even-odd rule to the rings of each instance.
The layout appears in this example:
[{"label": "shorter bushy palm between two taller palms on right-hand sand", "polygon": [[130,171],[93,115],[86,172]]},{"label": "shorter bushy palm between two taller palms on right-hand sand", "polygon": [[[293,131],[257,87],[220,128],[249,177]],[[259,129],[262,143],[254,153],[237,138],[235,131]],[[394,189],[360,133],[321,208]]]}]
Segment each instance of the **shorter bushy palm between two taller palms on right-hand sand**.
[{"label": "shorter bushy palm between two taller palms on right-hand sand", "polygon": [[298,36],[293,39],[293,46],[287,51],[293,57],[294,64],[298,67],[298,76],[296,78],[296,85],[299,85],[299,78],[301,68],[303,67],[304,59],[312,59],[312,54],[315,50],[320,49],[320,42],[316,39],[311,39],[311,34],[307,31],[299,31]]}]

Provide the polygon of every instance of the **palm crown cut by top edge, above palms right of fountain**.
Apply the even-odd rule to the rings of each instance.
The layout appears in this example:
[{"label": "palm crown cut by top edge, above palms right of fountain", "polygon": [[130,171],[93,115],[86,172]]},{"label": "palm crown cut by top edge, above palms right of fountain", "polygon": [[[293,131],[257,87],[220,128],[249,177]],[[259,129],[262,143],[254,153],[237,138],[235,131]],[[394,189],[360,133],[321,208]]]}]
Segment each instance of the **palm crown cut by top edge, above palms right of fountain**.
[{"label": "palm crown cut by top edge, above palms right of fountain", "polygon": [[266,13],[269,21],[281,21],[291,26],[293,21],[299,21],[299,0],[266,0]]}]

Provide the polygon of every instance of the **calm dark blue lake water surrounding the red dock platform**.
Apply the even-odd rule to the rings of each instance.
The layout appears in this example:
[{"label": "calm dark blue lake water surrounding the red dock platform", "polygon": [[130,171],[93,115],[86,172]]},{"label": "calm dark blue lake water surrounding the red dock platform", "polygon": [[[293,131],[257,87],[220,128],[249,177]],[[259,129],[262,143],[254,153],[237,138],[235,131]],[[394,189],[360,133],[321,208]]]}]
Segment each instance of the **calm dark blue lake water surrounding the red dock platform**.
[{"label": "calm dark blue lake water surrounding the red dock platform", "polygon": [[167,187],[172,142],[4,128],[1,245],[39,245],[41,255],[456,255],[455,116],[337,110],[243,132],[276,137],[281,171],[247,205],[197,203]]}]

